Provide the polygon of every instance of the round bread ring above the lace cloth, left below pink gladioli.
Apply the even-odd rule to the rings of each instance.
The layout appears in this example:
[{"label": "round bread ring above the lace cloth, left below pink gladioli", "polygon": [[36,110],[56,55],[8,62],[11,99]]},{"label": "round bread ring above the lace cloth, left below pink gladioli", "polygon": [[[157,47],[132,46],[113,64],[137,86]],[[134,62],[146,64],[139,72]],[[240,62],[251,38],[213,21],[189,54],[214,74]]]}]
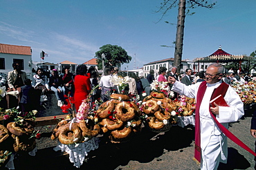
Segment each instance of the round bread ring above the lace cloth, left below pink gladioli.
[{"label": "round bread ring above the lace cloth, left below pink gladioli", "polygon": [[75,123],[64,125],[60,131],[59,141],[62,144],[74,144],[80,142],[81,139],[81,131]]}]

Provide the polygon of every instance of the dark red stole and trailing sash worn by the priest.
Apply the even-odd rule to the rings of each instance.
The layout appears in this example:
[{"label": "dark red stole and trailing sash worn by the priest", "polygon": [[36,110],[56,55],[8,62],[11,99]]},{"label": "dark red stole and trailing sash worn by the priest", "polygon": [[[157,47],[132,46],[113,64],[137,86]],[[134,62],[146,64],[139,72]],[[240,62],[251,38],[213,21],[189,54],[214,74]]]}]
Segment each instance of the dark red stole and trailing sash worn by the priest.
[{"label": "dark red stole and trailing sash worn by the priest", "polygon": [[[202,82],[199,86],[199,93],[197,93],[196,96],[196,115],[195,115],[195,149],[194,149],[194,158],[196,158],[196,160],[198,160],[199,162],[201,162],[201,140],[200,140],[200,118],[199,118],[199,108],[201,105],[201,102],[203,100],[203,95],[205,93],[207,86],[206,86],[206,81]],[[228,90],[228,84],[222,82],[221,85],[218,88],[215,88],[212,96],[211,96],[211,100],[214,97],[217,97],[218,95],[223,95],[223,97],[226,95],[226,91]],[[210,104],[209,104],[209,111],[210,111]],[[256,156],[256,153],[251,150],[249,147],[246,146],[246,144],[244,144],[243,142],[241,142],[241,140],[239,140],[235,135],[233,135],[230,131],[228,131],[228,129],[226,129],[225,126],[223,126],[221,123],[218,122],[218,120],[216,119],[216,115],[214,115],[211,111],[210,111],[210,115],[212,116],[214,122],[217,124],[217,126],[219,127],[219,129],[228,137],[230,138],[230,140],[232,140],[233,142],[235,142],[236,144],[238,144],[240,147],[246,149],[246,151],[252,153],[253,155]]]}]

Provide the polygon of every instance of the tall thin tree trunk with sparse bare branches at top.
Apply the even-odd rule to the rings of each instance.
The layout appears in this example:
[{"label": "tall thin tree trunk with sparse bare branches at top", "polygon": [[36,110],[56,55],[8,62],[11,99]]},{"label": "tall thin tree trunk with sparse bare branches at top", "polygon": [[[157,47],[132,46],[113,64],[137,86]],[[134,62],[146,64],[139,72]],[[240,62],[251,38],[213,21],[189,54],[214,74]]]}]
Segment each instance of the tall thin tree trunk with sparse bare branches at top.
[{"label": "tall thin tree trunk with sparse bare branches at top", "polygon": [[179,13],[177,17],[177,26],[176,26],[176,43],[175,43],[175,52],[174,52],[174,66],[177,67],[177,72],[181,70],[181,58],[183,51],[183,37],[184,37],[184,26],[185,26],[185,15],[193,15],[190,13],[189,8],[203,7],[203,8],[213,8],[215,3],[208,4],[208,1],[205,0],[163,0],[161,7],[156,12],[163,11],[163,16],[167,13],[168,10],[176,8],[179,6]]}]

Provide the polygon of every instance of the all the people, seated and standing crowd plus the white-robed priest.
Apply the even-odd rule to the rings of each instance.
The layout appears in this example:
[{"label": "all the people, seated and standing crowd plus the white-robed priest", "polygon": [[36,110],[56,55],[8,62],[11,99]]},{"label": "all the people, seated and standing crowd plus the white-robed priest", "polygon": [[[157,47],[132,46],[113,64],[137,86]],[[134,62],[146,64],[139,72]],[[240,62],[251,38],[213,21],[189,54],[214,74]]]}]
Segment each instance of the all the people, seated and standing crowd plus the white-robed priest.
[{"label": "all the people, seated and standing crowd plus the white-robed priest", "polygon": [[[19,92],[17,99],[22,112],[32,111],[39,106],[44,107],[48,92],[55,94],[57,106],[60,107],[65,104],[67,96],[74,97],[76,112],[92,89],[91,101],[101,99],[102,102],[107,102],[110,100],[110,95],[118,91],[111,78],[114,75],[125,77],[118,72],[118,68],[106,68],[103,75],[99,75],[95,67],[87,68],[85,64],[80,64],[75,74],[65,66],[62,74],[59,75],[58,71],[53,69],[51,76],[48,77],[42,68],[37,68],[35,75],[28,79],[26,73],[21,71],[19,63],[14,63],[12,66],[14,70],[8,73],[7,91]],[[187,68],[185,74],[181,75],[177,73],[175,66],[169,71],[165,67],[159,68],[157,77],[154,77],[154,70],[150,70],[147,77],[138,77],[135,73],[129,73],[130,81],[125,91],[126,94],[138,95],[140,100],[143,100],[152,91],[150,84],[158,80],[158,82],[168,82],[175,97],[179,93],[196,98],[195,157],[201,161],[201,169],[217,169],[219,162],[227,160],[227,137],[211,116],[214,115],[227,129],[229,122],[239,120],[244,115],[244,106],[239,95],[228,84],[249,82],[253,78],[250,74],[238,75],[233,70],[224,73],[223,66],[217,63],[210,64],[205,72],[192,74],[192,69]],[[229,108],[218,106],[216,103],[214,106],[210,105],[210,100],[219,94],[223,95]],[[10,102],[8,97],[6,100],[7,103]],[[255,131],[252,135],[255,135]]]}]

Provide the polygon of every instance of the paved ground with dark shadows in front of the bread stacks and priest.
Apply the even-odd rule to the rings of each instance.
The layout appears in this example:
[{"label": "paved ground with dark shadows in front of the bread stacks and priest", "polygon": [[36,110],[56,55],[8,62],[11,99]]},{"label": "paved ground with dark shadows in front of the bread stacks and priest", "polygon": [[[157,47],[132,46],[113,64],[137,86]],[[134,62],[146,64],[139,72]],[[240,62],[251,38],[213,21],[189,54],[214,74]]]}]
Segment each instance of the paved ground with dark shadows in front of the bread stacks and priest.
[{"label": "paved ground with dark shadows in front of the bread stacks and priest", "polygon": [[[251,149],[255,139],[250,136],[250,120],[230,124],[230,131],[237,135]],[[50,135],[50,134],[49,134]],[[48,142],[47,135],[42,142]],[[194,131],[190,127],[172,126],[167,133],[152,133],[144,128],[130,142],[123,144],[107,143],[101,138],[99,149],[89,153],[89,159],[80,169],[199,169],[192,160],[194,154]],[[56,157],[54,142],[48,143],[47,149],[40,149],[35,157],[19,156],[15,160],[16,169],[76,169],[69,162],[68,155]],[[253,155],[228,141],[228,164],[221,164],[219,169],[254,169]]]}]

